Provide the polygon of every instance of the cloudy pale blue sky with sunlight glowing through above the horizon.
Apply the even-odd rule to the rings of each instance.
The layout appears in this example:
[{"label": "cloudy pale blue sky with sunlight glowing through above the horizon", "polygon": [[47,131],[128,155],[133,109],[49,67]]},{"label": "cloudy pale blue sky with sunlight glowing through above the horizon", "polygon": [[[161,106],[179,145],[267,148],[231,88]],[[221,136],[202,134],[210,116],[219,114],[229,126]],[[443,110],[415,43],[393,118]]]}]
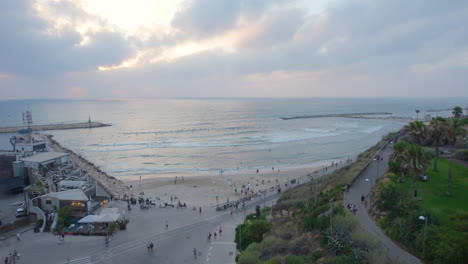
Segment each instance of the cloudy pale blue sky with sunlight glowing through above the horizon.
[{"label": "cloudy pale blue sky with sunlight glowing through above the horizon", "polygon": [[466,0],[2,0],[0,100],[468,96]]}]

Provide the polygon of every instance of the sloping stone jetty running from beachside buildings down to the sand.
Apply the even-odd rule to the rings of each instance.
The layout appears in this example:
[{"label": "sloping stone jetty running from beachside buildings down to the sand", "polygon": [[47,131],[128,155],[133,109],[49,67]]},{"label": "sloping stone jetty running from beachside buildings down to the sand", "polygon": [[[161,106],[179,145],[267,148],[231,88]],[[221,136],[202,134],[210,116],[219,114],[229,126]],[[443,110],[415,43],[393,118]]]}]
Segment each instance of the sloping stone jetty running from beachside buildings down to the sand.
[{"label": "sloping stone jetty running from beachside buildings down to the sand", "polygon": [[89,176],[93,178],[106,192],[111,195],[114,199],[123,197],[125,193],[128,193],[128,187],[123,181],[118,180],[112,176],[107,175],[101,171],[96,165],[84,159],[81,155],[62,147],[57,141],[52,139],[52,135],[40,135],[47,141],[47,145],[58,152],[68,153],[71,162],[76,164],[82,170],[88,172]]}]

